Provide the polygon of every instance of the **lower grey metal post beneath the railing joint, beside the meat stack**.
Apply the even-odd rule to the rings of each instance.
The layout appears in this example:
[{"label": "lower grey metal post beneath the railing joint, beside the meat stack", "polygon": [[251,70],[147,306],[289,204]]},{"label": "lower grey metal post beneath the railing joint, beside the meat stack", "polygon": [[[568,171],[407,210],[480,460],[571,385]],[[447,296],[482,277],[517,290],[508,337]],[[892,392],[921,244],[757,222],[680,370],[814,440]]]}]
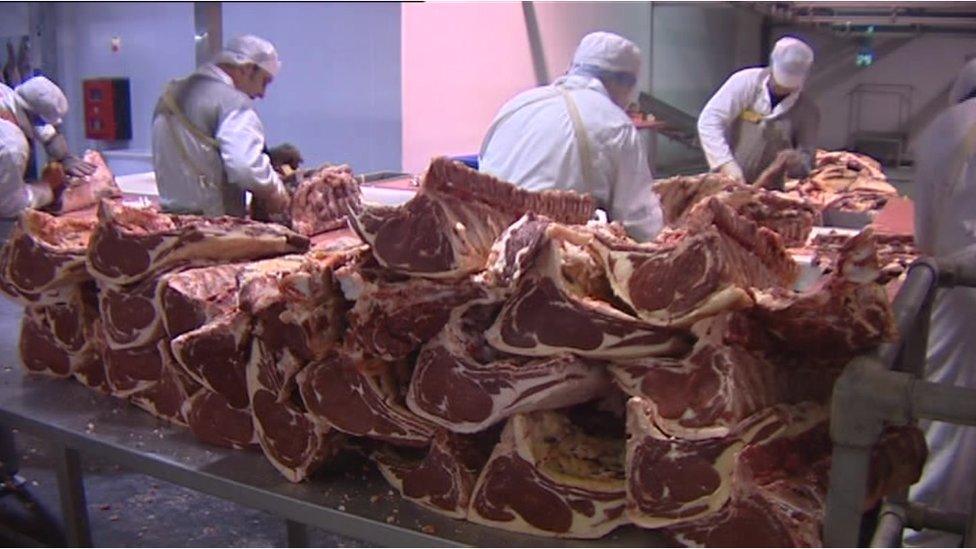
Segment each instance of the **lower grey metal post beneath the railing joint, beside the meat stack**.
[{"label": "lower grey metal post beneath the railing joint, beside the meat stack", "polygon": [[870,454],[870,447],[834,444],[824,516],[825,547],[857,545]]}]

